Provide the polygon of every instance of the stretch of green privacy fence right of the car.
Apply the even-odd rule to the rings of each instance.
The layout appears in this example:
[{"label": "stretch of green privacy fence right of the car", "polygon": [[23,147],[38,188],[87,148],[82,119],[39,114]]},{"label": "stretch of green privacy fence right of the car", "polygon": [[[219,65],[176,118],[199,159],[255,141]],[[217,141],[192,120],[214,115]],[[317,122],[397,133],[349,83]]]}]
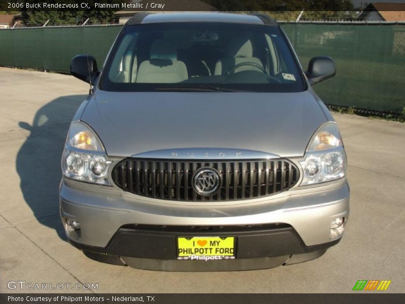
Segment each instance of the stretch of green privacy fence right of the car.
[{"label": "stretch of green privacy fence right of the car", "polygon": [[304,69],[313,56],[336,62],[314,86],[328,104],[401,113],[405,107],[405,25],[285,24]]}]

